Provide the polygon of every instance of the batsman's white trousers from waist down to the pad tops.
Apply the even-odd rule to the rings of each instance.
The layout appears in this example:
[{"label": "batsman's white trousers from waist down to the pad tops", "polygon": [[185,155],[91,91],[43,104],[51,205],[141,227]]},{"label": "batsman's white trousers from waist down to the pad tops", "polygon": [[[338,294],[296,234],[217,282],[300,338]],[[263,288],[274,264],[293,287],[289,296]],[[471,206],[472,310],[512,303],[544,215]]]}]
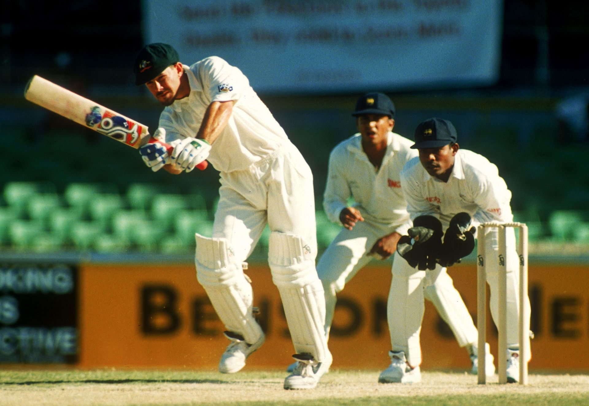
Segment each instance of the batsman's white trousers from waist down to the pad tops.
[{"label": "batsman's white trousers from waist down to the pad tops", "polygon": [[243,171],[221,172],[220,182],[213,237],[227,238],[237,259],[252,254],[266,223],[302,237],[317,254],[313,174],[294,145]]}]

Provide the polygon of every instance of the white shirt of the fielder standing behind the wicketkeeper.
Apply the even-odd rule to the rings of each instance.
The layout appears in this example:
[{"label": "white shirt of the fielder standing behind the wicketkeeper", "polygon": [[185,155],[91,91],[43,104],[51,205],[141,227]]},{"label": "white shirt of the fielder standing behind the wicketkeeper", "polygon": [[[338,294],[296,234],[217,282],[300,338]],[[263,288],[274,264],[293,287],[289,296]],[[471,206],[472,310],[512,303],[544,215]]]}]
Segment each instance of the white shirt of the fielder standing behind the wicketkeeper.
[{"label": "white shirt of the fielder standing behind the wicketkeeper", "polygon": [[323,208],[327,217],[339,223],[339,214],[351,196],[363,208],[363,216],[398,227],[405,234],[409,214],[401,191],[399,174],[403,165],[417,155],[413,141],[389,132],[388,147],[377,170],[362,149],[362,137],[355,134],[340,142],[329,155]]}]

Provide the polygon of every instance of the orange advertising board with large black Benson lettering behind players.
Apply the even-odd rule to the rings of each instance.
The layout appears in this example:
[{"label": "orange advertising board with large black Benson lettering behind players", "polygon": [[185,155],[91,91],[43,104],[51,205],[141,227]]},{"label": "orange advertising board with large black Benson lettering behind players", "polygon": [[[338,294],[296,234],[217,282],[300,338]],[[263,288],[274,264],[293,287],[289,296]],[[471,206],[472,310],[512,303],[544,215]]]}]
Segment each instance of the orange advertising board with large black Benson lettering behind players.
[{"label": "orange advertising board with large black Benson lettering behind players", "polygon": [[[250,264],[254,305],[266,342],[250,356],[250,369],[285,368],[292,342],[277,288],[265,264]],[[449,271],[475,315],[476,269]],[[333,367],[383,369],[391,349],[386,301],[390,263],[373,262],[338,296],[329,348]],[[82,368],[217,368],[229,341],[191,264],[82,264],[79,278],[79,357]],[[589,266],[530,265],[531,370],[589,370]],[[476,317],[475,322],[476,322]],[[497,335],[488,312],[491,350]],[[468,369],[466,351],[426,302],[421,332],[422,368]]]}]

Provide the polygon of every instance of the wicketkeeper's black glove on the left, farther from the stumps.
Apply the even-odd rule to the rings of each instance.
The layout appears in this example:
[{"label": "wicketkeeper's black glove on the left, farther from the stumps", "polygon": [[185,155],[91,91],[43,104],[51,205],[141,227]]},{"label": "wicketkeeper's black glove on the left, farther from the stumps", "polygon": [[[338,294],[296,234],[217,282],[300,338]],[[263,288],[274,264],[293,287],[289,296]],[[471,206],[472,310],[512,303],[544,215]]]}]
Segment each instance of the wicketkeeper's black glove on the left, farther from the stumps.
[{"label": "wicketkeeper's black glove on the left, farther from the stumps", "polygon": [[434,269],[436,259],[442,248],[442,223],[434,216],[425,215],[415,218],[409,235],[399,238],[397,252],[408,264],[420,271]]}]

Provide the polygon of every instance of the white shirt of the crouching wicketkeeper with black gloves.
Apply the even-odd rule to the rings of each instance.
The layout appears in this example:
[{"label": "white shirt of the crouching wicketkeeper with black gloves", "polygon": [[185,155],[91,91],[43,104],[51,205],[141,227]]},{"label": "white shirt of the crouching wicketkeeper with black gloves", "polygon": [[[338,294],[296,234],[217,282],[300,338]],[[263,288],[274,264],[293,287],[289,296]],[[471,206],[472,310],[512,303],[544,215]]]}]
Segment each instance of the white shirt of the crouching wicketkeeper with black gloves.
[{"label": "white shirt of the crouching wicketkeeper with black gloves", "polygon": [[418,158],[401,172],[403,193],[411,219],[434,215],[448,228],[455,214],[471,215],[472,226],[489,221],[512,221],[511,192],[494,164],[482,155],[458,149],[448,182],[428,174]]}]

